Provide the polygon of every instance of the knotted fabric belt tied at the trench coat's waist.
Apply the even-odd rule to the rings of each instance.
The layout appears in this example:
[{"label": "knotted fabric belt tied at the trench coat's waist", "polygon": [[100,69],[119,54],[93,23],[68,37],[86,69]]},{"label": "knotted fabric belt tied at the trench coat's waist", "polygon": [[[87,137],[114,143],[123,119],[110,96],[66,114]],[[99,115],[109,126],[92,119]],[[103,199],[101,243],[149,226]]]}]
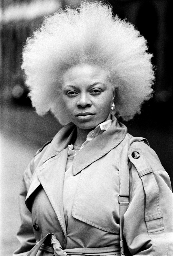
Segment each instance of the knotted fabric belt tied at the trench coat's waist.
[{"label": "knotted fabric belt tied at the trench coat's waist", "polygon": [[[44,245],[46,238],[51,235],[51,247]],[[55,256],[67,256],[67,255],[120,255],[119,246],[110,246],[110,247],[99,247],[99,248],[73,248],[73,249],[62,249],[60,242],[56,239],[55,234],[49,233],[39,242],[36,242],[36,245],[28,253],[27,256],[36,256],[38,250],[43,252],[54,253]]]}]

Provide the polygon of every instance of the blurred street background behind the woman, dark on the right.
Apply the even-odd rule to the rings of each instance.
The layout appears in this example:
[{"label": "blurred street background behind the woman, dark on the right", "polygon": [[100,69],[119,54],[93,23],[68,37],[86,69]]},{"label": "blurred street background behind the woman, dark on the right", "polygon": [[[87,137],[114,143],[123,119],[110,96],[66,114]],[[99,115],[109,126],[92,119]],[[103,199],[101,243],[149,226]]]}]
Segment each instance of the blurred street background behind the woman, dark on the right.
[{"label": "blurred street background behind the woman, dark on the right", "polygon": [[[112,0],[113,13],[133,23],[148,40],[156,66],[155,95],[142,114],[125,123],[133,136],[147,138],[172,182],[172,33],[168,0]],[[49,113],[39,117],[27,97],[20,69],[22,46],[44,16],[70,0],[1,0],[0,6],[0,139],[1,255],[12,255],[20,225],[18,194],[24,169],[35,152],[62,127]],[[121,120],[120,120],[121,121]]]}]

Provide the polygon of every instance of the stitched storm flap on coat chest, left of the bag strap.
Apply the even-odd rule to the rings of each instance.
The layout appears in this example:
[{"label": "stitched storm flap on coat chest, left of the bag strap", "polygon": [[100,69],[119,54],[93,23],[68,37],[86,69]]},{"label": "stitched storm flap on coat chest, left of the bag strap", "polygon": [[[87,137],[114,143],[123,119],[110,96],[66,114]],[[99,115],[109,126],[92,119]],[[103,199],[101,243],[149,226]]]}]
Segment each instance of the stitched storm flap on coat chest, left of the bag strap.
[{"label": "stitched storm flap on coat chest, left of the bag strap", "polygon": [[[114,152],[110,152],[111,159]],[[119,157],[119,155],[118,155]],[[82,170],[76,189],[72,216],[93,227],[119,233],[118,166],[107,165],[105,156]],[[115,156],[114,156],[115,158]]]}]

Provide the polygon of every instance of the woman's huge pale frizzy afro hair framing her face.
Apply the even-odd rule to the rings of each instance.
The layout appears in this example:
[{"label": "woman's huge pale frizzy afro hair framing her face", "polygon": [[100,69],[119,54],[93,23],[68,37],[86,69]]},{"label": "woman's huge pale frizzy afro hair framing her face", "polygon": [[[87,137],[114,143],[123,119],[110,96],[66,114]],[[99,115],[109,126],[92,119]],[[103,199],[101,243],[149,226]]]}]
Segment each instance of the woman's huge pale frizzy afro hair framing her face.
[{"label": "woman's huge pale frizzy afro hair framing her face", "polygon": [[60,10],[45,18],[23,50],[21,67],[32,104],[39,115],[50,110],[67,124],[61,97],[63,72],[75,65],[97,65],[109,71],[116,90],[116,115],[128,121],[153,92],[152,54],[147,49],[139,31],[113,17],[110,6],[83,2],[78,9]]}]

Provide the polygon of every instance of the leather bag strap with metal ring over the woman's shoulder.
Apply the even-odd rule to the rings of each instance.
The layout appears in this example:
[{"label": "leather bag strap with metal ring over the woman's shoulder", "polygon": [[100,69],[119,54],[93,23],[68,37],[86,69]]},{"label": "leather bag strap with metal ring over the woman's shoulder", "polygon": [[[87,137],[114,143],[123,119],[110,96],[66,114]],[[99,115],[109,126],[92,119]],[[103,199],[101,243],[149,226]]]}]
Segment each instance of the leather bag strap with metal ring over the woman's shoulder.
[{"label": "leather bag strap with metal ring over the woman's shoulder", "polygon": [[123,226],[124,214],[129,204],[129,160],[127,153],[130,145],[135,141],[142,141],[149,146],[148,141],[142,137],[131,137],[123,147],[119,159],[119,192],[118,203],[120,205],[120,248],[121,255],[124,255]]}]

